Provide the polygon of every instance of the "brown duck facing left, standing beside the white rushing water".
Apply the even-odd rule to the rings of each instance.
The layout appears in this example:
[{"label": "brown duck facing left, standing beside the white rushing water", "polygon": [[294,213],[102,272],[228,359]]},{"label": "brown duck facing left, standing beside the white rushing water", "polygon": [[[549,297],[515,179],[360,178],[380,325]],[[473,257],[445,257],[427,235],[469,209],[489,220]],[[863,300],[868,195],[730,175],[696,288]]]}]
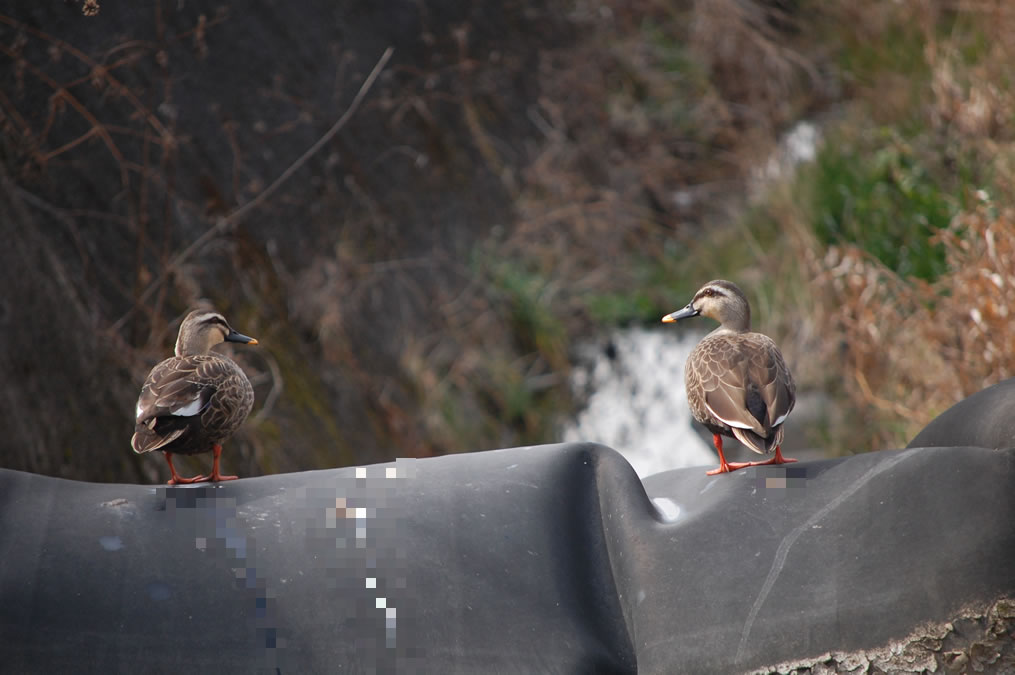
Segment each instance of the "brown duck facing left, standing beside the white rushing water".
[{"label": "brown duck facing left, standing beside the white rushing water", "polygon": [[[719,468],[706,473],[796,462],[783,457],[781,449],[783,425],[797,400],[796,385],[775,342],[751,331],[751,308],[744,291],[732,281],[709,281],[686,307],[663,317],[663,323],[698,316],[719,322],[691,350],[684,367],[691,415],[712,431],[719,453]],[[772,457],[761,462],[727,462],[723,436]]]}]

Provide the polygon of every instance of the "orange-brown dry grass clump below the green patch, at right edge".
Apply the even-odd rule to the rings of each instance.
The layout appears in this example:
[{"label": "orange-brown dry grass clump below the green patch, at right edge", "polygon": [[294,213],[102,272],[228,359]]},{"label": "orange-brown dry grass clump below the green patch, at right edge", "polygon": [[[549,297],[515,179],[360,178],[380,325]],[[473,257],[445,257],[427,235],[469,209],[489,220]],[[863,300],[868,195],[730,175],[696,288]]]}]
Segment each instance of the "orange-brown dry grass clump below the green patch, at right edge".
[{"label": "orange-brown dry grass clump below the green patch, at right edge", "polygon": [[933,283],[899,278],[856,248],[822,261],[821,323],[839,336],[829,347],[854,406],[870,413],[874,449],[904,445],[955,402],[1015,376],[1015,211],[985,199],[939,239],[951,271]]}]

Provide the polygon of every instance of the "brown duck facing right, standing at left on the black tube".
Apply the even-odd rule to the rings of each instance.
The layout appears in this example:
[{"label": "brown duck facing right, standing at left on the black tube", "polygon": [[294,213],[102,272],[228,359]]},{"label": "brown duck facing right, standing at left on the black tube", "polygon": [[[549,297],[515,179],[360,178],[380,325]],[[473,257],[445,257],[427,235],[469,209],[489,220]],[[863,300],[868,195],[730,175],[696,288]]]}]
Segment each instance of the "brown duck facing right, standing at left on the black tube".
[{"label": "brown duck facing right, standing at left on the black tube", "polygon": [[[131,447],[138,455],[161,451],[170,485],[236,478],[219,472],[219,456],[254,407],[254,388],[232,359],[209,353],[222,342],[258,343],[218,312],[194,310],[180,326],[176,355],[153,367],[141,387]],[[173,466],[174,455],[208,452],[214,454],[208,476],[184,478]]]}]

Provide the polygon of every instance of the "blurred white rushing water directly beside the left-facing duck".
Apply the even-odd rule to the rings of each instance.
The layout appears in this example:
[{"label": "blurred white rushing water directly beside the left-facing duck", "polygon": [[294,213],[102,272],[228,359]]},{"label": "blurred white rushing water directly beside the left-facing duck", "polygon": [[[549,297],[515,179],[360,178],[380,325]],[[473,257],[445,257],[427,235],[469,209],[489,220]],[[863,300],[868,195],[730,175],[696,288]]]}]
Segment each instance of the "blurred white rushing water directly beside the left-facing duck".
[{"label": "blurred white rushing water directly beside the left-facing duck", "polygon": [[609,446],[641,477],[716,464],[715,453],[691,428],[684,393],[684,362],[700,339],[675,329],[633,328],[581,346],[571,386],[588,396],[588,406],[565,427],[563,440]]}]

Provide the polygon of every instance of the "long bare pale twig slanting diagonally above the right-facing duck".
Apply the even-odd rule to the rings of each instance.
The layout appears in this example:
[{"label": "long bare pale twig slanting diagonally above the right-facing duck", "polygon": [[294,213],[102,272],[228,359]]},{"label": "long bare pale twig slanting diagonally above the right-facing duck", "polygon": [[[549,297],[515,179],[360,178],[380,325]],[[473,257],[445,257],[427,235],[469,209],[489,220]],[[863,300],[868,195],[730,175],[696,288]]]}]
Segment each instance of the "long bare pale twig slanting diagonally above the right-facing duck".
[{"label": "long bare pale twig slanting diagonally above the right-facing duck", "polygon": [[128,310],[124,316],[118,319],[110,327],[110,330],[114,333],[120,332],[120,330],[123,328],[127,320],[130,319],[131,316],[133,316],[134,312],[137,311],[138,307],[143,305],[151,296],[151,293],[153,293],[156,288],[165,283],[165,280],[170,277],[170,274],[173,272],[173,270],[175,270],[177,267],[183,264],[183,262],[186,261],[188,258],[190,258],[194,254],[194,252],[196,252],[198,249],[200,249],[209,241],[220,234],[226,227],[239,224],[251,211],[253,211],[258,206],[263,204],[264,201],[268,199],[268,197],[273,195],[275,191],[282,186],[283,183],[285,183],[292,177],[293,174],[299,171],[311,157],[320,152],[321,148],[324,147],[328,143],[328,141],[334,138],[335,134],[337,134],[339,131],[342,130],[342,127],[344,127],[346,123],[348,123],[348,121],[359,109],[359,106],[363,102],[363,98],[366,97],[366,93],[370,90],[370,87],[374,86],[374,82],[377,81],[377,78],[381,75],[381,72],[384,70],[385,65],[387,65],[388,61],[391,59],[392,54],[394,53],[395,50],[392,47],[389,47],[388,49],[385,50],[384,54],[382,54],[381,58],[378,60],[377,65],[374,66],[374,70],[370,71],[370,74],[366,76],[366,79],[363,80],[363,83],[359,86],[359,91],[356,92],[356,95],[352,99],[352,103],[349,104],[349,108],[346,109],[345,113],[342,114],[342,117],[338,118],[338,121],[332,125],[331,129],[329,129],[324,134],[324,136],[322,136],[320,139],[318,139],[316,143],[314,143],[314,145],[308,148],[307,151],[303,152],[298,159],[289,164],[289,167],[286,168],[284,172],[282,172],[281,176],[275,179],[272,182],[272,184],[269,185],[267,188],[262,190],[254,199],[247,202],[240,208],[233,210],[228,215],[219,218],[214,225],[209,227],[207,230],[205,230],[203,234],[194,240],[190,244],[190,246],[188,246],[186,249],[184,249],[176,256],[174,256],[173,260],[171,260],[170,263],[162,269],[162,273],[158,275],[158,278],[152,281],[148,285],[148,287],[144,289],[144,292],[142,292],[138,296],[137,300],[134,302],[134,306],[130,310]]}]

